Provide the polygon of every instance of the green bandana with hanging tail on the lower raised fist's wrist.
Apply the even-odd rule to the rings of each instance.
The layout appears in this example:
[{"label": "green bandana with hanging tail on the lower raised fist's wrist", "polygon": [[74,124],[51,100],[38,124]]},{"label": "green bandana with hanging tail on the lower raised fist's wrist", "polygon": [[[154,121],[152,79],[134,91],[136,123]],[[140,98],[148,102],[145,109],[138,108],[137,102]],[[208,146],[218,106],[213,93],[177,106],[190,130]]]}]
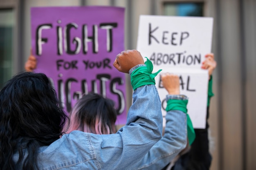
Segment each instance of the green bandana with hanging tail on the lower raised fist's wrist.
[{"label": "green bandana with hanging tail on the lower raised fist's wrist", "polygon": [[166,111],[181,110],[182,112],[186,113],[189,145],[191,145],[195,140],[195,130],[193,128],[192,121],[189,117],[189,114],[187,113],[187,109],[186,109],[187,103],[188,103],[188,100],[170,99],[167,101]]}]

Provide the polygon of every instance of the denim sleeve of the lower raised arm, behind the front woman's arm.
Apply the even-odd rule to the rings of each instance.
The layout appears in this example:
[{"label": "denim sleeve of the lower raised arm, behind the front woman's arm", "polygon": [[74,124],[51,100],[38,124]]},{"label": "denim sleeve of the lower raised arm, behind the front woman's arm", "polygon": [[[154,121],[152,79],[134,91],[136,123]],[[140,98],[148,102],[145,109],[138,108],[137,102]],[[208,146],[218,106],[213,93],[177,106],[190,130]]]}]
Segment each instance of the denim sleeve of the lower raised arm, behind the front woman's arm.
[{"label": "denim sleeve of the lower raised arm, behind the front woman's arm", "polygon": [[[187,99],[183,95],[167,95],[168,99]],[[171,162],[186,147],[186,113],[180,110],[170,110],[166,114],[164,136],[138,163],[132,165],[132,170],[160,170]]]}]

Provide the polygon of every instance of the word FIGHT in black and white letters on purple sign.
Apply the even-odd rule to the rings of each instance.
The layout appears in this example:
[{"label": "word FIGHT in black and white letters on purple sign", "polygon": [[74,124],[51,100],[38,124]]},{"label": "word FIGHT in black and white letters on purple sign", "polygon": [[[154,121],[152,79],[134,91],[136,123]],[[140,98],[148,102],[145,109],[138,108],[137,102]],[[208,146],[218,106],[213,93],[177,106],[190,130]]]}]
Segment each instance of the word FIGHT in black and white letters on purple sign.
[{"label": "word FIGHT in black and white letters on purple sign", "polygon": [[[99,52],[99,36],[98,31],[99,30],[106,30],[106,51],[111,52],[113,50],[113,30],[114,28],[117,28],[116,22],[110,22],[110,23],[99,23],[92,25],[92,33],[91,36],[89,36],[90,33],[88,33],[88,25],[82,24],[82,31],[80,33],[80,36],[75,36],[74,33],[77,34],[77,31],[79,30],[79,25],[75,22],[68,23],[64,27],[61,25],[61,20],[57,21],[56,27],[56,53],[57,55],[63,55],[63,48],[65,53],[69,55],[76,55],[80,53],[81,49],[83,51],[83,54],[88,53],[88,43],[92,42],[92,52],[98,53]],[[36,28],[36,54],[42,55],[43,48],[42,45],[48,42],[48,38],[44,37],[42,35],[43,30],[45,29],[52,29],[53,24],[52,23],[46,23],[46,24],[40,24]],[[102,38],[102,37],[100,37]],[[64,46],[63,46],[64,44]]]}]

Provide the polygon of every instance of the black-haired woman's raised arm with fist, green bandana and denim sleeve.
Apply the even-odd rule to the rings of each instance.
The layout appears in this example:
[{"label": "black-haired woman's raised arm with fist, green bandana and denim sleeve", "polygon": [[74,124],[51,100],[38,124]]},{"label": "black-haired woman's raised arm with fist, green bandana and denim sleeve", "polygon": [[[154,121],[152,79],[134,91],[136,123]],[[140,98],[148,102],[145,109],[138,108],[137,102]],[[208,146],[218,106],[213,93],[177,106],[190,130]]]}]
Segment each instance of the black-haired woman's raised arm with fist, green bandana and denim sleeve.
[{"label": "black-haired woman's raised arm with fist, green bandana and denim sleeve", "polygon": [[128,111],[126,126],[116,134],[91,135],[91,138],[95,137],[95,146],[101,148],[99,152],[95,150],[99,169],[129,168],[162,137],[161,101],[154,79],[159,71],[152,73],[153,64],[148,59],[145,64],[136,50],[119,53],[113,63],[119,71],[130,73],[133,103]]}]

